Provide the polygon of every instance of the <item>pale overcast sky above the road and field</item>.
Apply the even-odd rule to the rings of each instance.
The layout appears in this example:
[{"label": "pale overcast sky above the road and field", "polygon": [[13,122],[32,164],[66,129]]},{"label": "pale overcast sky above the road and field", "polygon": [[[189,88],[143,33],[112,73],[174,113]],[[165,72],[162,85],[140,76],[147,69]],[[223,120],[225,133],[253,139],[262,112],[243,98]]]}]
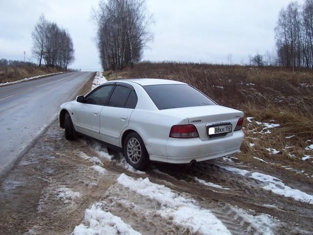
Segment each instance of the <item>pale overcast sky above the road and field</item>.
[{"label": "pale overcast sky above the road and field", "polygon": [[[34,61],[31,32],[42,13],[67,28],[75,62],[82,71],[100,71],[91,21],[99,0],[0,0],[0,58]],[[290,0],[147,0],[154,15],[153,42],[143,60],[229,63],[275,48],[278,13]],[[298,0],[302,4],[304,0]]]}]

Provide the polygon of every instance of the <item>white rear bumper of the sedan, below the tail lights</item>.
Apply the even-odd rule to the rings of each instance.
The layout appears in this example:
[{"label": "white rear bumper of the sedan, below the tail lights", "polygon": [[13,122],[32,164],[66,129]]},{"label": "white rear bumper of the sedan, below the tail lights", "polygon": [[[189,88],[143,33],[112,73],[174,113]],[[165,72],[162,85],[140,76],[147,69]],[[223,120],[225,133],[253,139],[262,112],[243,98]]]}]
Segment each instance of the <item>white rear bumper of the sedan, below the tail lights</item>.
[{"label": "white rear bumper of the sedan, below the tail lights", "polygon": [[166,144],[166,157],[150,155],[150,160],[176,164],[186,164],[193,160],[206,161],[238,152],[243,140],[243,131],[236,131],[233,135],[224,138],[205,141],[199,138],[170,138]]}]

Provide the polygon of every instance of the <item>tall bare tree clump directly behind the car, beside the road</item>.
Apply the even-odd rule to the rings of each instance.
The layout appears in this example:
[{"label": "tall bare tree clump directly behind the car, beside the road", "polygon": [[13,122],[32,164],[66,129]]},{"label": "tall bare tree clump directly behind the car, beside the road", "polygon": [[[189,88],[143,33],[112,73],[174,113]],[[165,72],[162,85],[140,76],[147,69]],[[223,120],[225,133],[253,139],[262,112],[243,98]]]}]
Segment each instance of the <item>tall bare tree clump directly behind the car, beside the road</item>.
[{"label": "tall bare tree clump directly behind the car, beside the road", "polygon": [[94,10],[97,23],[97,47],[104,70],[132,67],[152,39],[145,0],[100,1]]}]

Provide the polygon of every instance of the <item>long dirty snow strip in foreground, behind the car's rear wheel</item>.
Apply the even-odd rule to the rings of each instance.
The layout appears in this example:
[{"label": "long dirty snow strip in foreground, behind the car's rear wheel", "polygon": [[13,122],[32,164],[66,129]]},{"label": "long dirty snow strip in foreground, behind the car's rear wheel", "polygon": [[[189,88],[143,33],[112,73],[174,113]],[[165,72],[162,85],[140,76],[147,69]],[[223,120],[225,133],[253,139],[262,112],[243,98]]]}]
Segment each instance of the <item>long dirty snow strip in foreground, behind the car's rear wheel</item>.
[{"label": "long dirty snow strip in foreground, behind the car's rear wheel", "polygon": [[163,185],[157,185],[148,178],[134,179],[121,174],[117,182],[151,200],[156,200],[160,209],[156,214],[172,219],[177,226],[188,226],[193,233],[203,235],[230,235],[224,224],[209,210],[201,209],[194,199],[184,198]]}]

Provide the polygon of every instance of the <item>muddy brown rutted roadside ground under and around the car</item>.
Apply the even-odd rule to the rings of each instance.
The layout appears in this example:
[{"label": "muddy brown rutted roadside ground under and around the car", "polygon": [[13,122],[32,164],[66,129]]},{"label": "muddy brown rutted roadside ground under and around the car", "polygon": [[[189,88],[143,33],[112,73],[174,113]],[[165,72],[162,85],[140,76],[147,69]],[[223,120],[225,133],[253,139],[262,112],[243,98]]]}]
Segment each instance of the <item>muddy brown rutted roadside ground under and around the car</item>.
[{"label": "muddy brown rutted roadside ground under and around the car", "polygon": [[[251,170],[236,163],[235,158],[232,162],[218,159],[194,165],[153,163],[139,174],[125,169],[118,153],[110,152],[114,161],[99,155],[92,147],[94,144],[84,138],[65,140],[63,130],[55,122],[2,180],[0,234],[71,234],[82,223],[85,210],[99,201],[105,203],[105,210],[141,234],[200,234],[153,213],[160,205],[117,184],[121,173],[135,179],[148,177],[153,183],[197,200],[201,208],[210,210],[234,235],[262,234],[245,219],[241,209],[254,215],[266,213],[279,220],[273,229],[275,234],[313,234],[313,204],[274,194],[262,189],[264,183],[258,180],[226,170],[224,167],[228,166]],[[93,156],[101,162],[90,161]],[[94,165],[101,165],[106,172],[100,174],[92,168]],[[300,187],[300,182],[279,172],[271,175],[277,174],[291,188],[313,194],[310,185],[302,183]],[[58,197],[64,188],[80,195],[71,200]]]}]

